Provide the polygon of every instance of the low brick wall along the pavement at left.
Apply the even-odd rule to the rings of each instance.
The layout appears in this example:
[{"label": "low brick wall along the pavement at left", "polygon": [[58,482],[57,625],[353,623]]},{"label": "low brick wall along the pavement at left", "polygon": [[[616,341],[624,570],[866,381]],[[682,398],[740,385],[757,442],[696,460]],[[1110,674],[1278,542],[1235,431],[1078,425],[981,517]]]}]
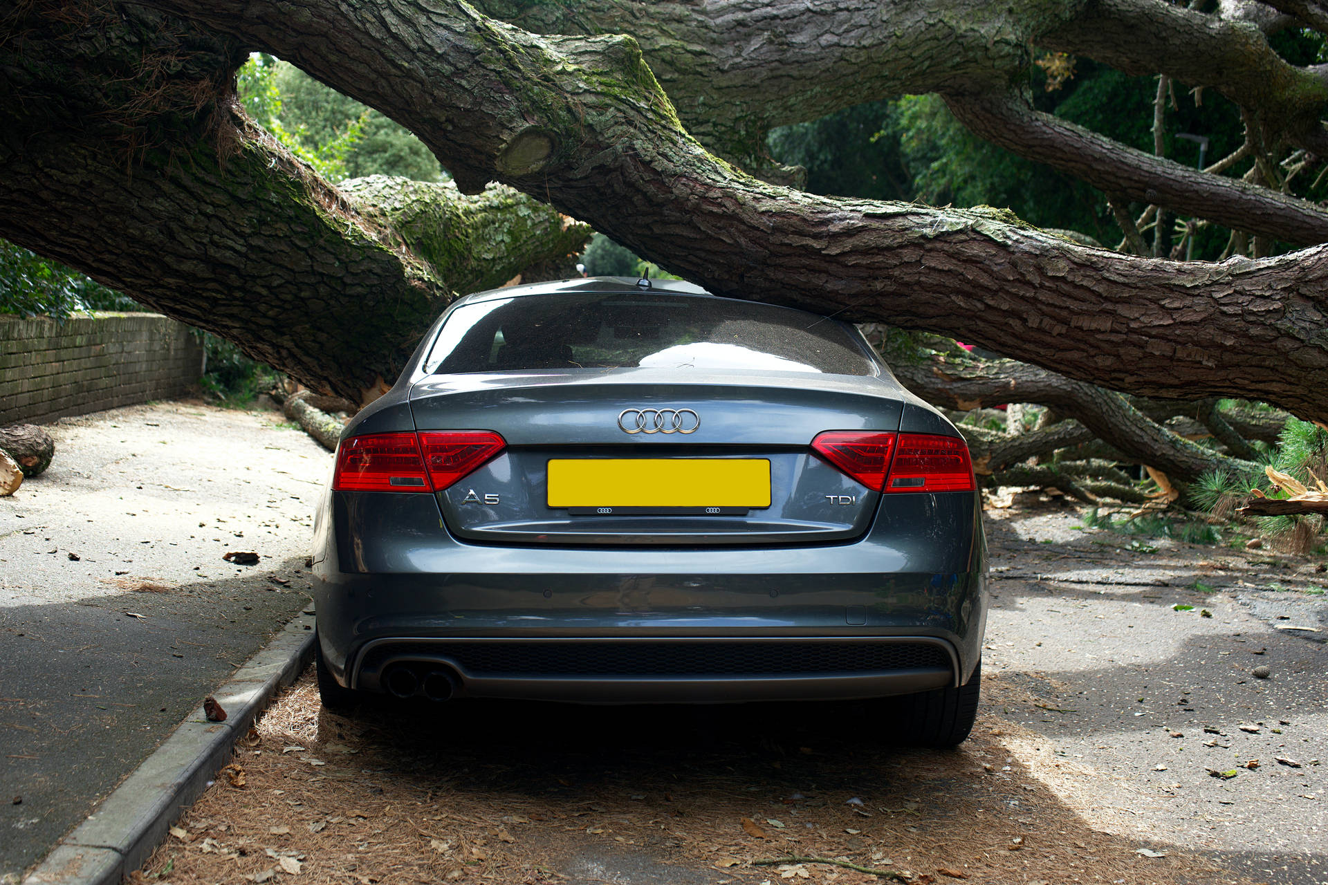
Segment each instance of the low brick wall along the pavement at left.
[{"label": "low brick wall along the pavement at left", "polygon": [[198,381],[203,346],[157,313],[0,314],[0,425],[42,423],[149,399]]}]

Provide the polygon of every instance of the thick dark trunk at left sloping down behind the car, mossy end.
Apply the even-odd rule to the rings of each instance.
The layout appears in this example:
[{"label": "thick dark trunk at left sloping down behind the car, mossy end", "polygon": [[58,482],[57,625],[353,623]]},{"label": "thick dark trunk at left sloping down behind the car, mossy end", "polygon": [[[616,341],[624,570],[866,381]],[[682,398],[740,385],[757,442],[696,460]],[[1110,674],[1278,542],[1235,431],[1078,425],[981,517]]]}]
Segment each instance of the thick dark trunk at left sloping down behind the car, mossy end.
[{"label": "thick dark trunk at left sloping down behind the car, mossy end", "polygon": [[0,236],[309,387],[361,401],[453,291],[588,236],[503,187],[332,187],[239,109],[232,38],[134,7],[5,12]]}]

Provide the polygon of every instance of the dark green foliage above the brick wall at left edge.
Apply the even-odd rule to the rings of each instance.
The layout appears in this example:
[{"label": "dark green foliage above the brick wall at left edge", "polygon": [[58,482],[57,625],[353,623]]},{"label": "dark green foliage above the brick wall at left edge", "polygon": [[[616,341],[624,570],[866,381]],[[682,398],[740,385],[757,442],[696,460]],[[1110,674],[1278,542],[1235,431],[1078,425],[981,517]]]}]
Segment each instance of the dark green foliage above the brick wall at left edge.
[{"label": "dark green foliage above the brick wall at left edge", "polygon": [[0,240],[0,313],[64,320],[76,310],[141,310],[133,299]]}]

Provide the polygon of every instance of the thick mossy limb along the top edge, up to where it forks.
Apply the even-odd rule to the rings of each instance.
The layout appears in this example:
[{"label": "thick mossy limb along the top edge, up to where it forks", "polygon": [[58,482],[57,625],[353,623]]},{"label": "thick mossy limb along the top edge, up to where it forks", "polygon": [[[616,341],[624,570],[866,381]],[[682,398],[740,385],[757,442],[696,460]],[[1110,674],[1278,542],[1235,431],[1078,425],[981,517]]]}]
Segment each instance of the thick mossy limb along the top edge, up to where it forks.
[{"label": "thick mossy limb along the top edge, up to where it forks", "polygon": [[954,0],[947,8],[879,0],[478,0],[526,31],[632,34],[697,139],[748,171],[788,183],[766,154],[774,126],[817,119],[884,96],[940,85],[1007,82],[1028,41],[1078,4]]}]

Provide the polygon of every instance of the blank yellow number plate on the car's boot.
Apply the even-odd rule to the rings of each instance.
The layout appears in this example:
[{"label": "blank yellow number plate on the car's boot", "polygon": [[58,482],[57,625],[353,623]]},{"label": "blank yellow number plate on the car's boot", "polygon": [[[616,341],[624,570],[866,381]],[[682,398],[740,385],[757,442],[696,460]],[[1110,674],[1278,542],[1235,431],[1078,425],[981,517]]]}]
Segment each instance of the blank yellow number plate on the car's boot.
[{"label": "blank yellow number plate on the car's boot", "polygon": [[548,462],[550,507],[769,507],[765,458],[578,458]]}]

